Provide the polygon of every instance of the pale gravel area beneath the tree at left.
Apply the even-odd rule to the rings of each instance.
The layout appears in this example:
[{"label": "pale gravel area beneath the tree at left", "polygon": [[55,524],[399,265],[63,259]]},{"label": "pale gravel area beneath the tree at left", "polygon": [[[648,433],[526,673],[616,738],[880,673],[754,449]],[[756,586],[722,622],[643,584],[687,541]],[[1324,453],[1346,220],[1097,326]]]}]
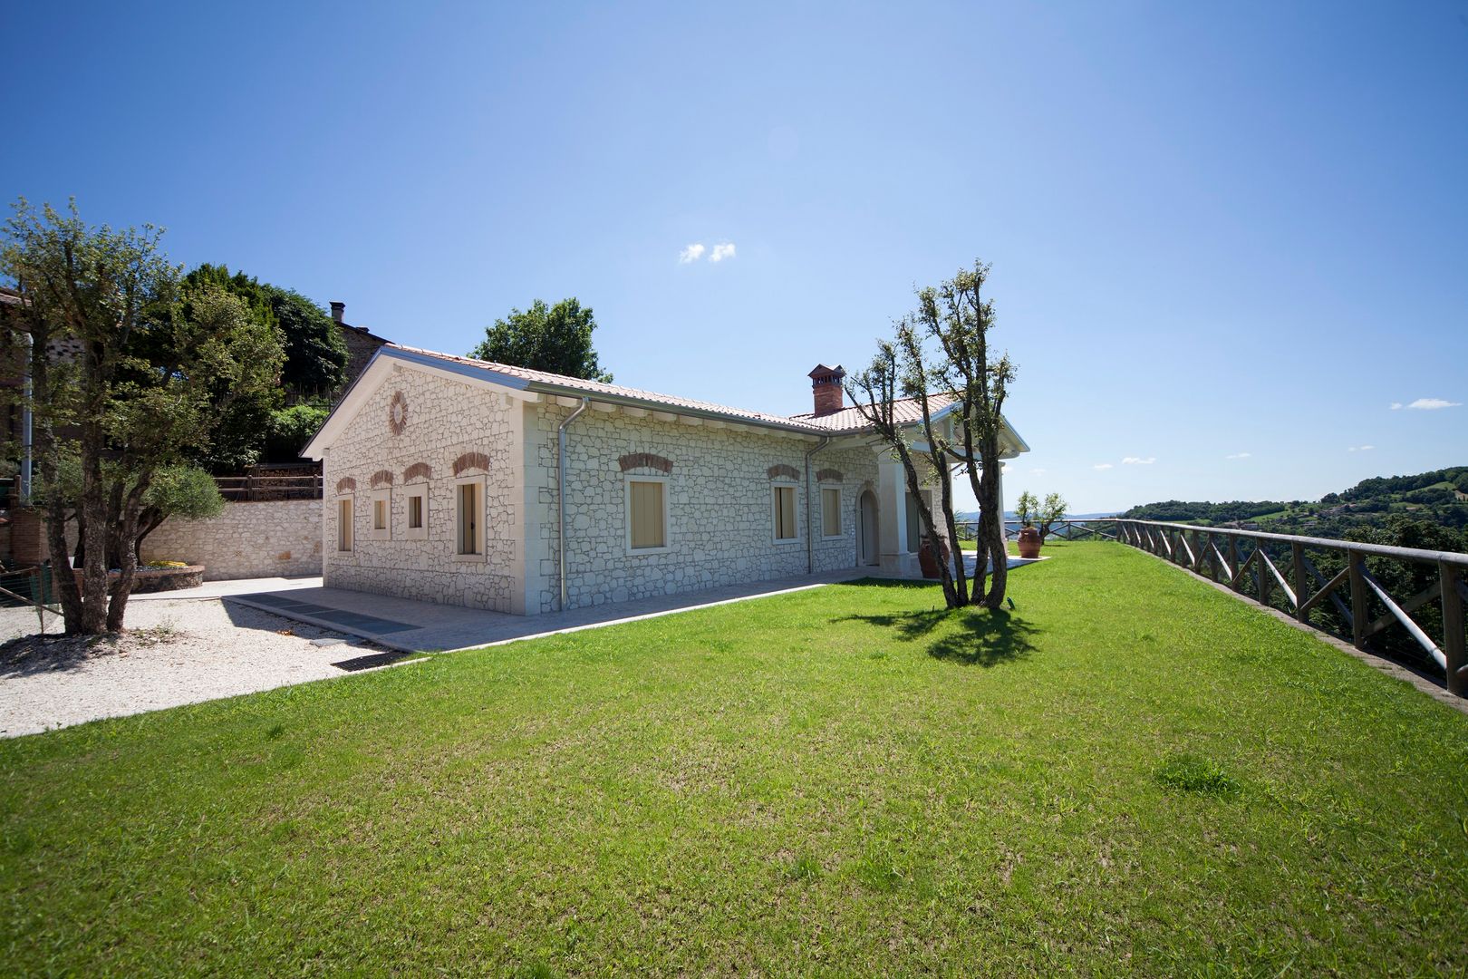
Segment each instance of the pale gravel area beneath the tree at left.
[{"label": "pale gravel area beneath the tree at left", "polygon": [[[34,611],[0,614],[0,640],[35,631]],[[47,616],[53,631],[60,621]],[[311,644],[323,637],[349,641]],[[0,652],[0,737],[342,677],[351,671],[333,663],[382,652],[219,599],[138,602],[128,606],[119,643],[66,640]]]}]

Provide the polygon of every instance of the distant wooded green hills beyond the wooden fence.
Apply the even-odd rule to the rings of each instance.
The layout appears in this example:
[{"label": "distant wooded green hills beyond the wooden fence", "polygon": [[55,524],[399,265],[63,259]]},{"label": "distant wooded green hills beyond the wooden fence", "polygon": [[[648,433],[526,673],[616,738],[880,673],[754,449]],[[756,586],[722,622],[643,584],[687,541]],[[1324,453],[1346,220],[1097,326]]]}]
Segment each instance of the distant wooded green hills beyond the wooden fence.
[{"label": "distant wooded green hills beyond the wooden fence", "polygon": [[1405,517],[1461,531],[1468,527],[1468,465],[1417,476],[1376,476],[1348,490],[1309,501],[1164,501],[1122,514],[1135,520],[1164,520],[1208,525],[1243,525],[1317,537],[1348,537],[1351,531],[1387,525]]}]

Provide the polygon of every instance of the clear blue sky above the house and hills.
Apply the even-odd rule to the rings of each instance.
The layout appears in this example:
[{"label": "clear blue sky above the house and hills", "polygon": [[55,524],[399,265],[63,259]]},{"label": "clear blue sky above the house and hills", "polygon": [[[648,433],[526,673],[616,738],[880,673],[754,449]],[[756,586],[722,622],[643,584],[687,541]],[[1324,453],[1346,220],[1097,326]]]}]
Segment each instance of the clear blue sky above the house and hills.
[{"label": "clear blue sky above the house and hills", "polygon": [[421,6],[4,0],[0,192],[781,412],[982,257],[1076,512],[1468,462],[1468,1]]}]

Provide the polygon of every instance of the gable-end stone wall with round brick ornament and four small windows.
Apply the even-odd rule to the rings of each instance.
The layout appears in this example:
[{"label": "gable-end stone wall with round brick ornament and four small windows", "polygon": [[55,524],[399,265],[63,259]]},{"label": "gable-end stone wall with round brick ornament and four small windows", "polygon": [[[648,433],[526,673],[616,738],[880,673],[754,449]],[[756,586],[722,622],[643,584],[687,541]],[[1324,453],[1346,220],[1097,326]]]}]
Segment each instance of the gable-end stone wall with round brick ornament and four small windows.
[{"label": "gable-end stone wall with round brick ornament and four small windows", "polygon": [[[401,415],[395,393],[405,404]],[[324,501],[316,505],[327,587],[524,612],[521,412],[520,402],[483,386],[392,371],[326,454]],[[383,471],[390,484],[379,476],[373,487]],[[484,489],[477,558],[455,553],[457,486],[474,477]],[[427,487],[423,540],[407,536],[408,486]],[[373,537],[374,490],[390,493],[388,539]],[[345,552],[338,549],[341,499],[352,501],[354,542]]]}]

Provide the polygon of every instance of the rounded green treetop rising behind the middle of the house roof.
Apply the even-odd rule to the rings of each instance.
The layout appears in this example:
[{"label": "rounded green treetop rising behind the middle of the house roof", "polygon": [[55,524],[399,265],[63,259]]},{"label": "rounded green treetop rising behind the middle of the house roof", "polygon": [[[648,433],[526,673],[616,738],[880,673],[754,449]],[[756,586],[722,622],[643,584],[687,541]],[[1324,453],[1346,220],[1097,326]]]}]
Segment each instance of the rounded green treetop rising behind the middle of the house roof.
[{"label": "rounded green treetop rising behind the middle of the house roof", "polygon": [[595,329],[592,307],[583,307],[574,296],[553,307],[536,299],[528,310],[511,310],[504,320],[495,320],[468,355],[567,377],[611,382],[612,376],[596,361],[592,346]]}]

